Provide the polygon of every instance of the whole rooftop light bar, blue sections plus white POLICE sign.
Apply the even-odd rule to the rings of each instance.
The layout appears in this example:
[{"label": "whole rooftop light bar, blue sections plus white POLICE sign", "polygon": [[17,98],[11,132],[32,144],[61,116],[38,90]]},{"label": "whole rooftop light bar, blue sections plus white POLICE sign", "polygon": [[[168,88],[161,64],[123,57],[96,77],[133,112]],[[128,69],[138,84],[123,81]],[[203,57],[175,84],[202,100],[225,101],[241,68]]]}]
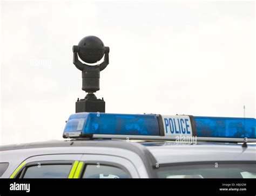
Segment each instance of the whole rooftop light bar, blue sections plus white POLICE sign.
[{"label": "whole rooftop light bar, blue sections plus white POLICE sign", "polygon": [[197,136],[209,141],[242,141],[247,137],[256,141],[255,128],[255,118],[76,113],[69,117],[63,137],[173,140]]}]

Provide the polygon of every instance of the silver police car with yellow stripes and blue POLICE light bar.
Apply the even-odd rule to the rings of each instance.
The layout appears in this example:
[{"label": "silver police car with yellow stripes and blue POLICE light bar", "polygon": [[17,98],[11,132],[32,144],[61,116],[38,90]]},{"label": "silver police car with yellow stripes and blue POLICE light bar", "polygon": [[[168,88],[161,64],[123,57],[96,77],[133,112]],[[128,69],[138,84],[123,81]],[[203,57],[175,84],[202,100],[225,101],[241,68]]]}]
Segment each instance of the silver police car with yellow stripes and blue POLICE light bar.
[{"label": "silver police car with yellow stripes and blue POLICE light bar", "polygon": [[1,146],[0,177],[256,178],[255,122],[76,113],[64,141]]}]

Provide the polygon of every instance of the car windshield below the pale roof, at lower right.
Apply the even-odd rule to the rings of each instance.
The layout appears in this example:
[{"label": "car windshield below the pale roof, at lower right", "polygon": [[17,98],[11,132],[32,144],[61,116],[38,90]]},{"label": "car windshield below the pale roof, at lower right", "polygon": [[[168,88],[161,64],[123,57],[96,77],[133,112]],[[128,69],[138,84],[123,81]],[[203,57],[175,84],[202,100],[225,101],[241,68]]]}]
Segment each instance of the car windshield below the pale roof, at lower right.
[{"label": "car windshield below the pale roof, at lower right", "polygon": [[256,163],[160,165],[159,178],[256,178]]}]

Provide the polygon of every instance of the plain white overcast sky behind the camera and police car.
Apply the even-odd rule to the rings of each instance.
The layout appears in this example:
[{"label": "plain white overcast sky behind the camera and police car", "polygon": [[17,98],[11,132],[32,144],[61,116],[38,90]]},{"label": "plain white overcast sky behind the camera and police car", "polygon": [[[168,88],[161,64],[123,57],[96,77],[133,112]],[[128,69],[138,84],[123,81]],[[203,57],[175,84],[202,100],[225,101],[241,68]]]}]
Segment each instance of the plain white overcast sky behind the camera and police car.
[{"label": "plain white overcast sky behind the camera and police car", "polygon": [[255,117],[254,2],[1,2],[0,144],[62,139],[72,46],[110,47],[107,113]]}]

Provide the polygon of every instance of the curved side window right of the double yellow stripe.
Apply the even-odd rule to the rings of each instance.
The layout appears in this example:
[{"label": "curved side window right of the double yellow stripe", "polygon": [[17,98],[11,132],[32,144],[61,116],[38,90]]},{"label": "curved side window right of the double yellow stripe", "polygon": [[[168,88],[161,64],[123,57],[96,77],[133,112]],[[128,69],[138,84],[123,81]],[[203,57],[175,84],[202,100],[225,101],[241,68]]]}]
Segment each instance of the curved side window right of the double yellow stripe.
[{"label": "curved side window right of the double yellow stripe", "polygon": [[88,164],[82,178],[130,178],[130,174],[117,166]]}]

